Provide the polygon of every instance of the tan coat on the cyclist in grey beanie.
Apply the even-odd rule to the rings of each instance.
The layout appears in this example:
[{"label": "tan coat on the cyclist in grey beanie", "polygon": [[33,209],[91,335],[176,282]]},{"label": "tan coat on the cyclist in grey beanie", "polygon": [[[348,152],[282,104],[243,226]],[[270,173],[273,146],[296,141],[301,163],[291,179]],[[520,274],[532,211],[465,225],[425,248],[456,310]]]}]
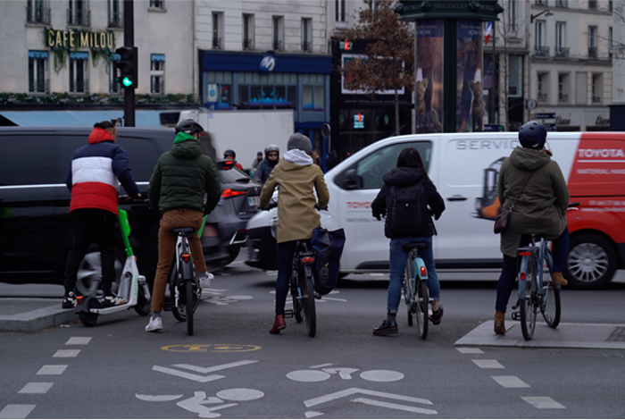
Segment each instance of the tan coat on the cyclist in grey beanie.
[{"label": "tan coat on the cyclist in grey beanie", "polygon": [[280,159],[262,187],[262,208],[269,206],[273,190],[279,185],[278,229],[276,241],[311,239],[312,231],[321,226],[321,216],[314,209],[328,206],[329,192],[321,168],[316,164],[299,165]]}]

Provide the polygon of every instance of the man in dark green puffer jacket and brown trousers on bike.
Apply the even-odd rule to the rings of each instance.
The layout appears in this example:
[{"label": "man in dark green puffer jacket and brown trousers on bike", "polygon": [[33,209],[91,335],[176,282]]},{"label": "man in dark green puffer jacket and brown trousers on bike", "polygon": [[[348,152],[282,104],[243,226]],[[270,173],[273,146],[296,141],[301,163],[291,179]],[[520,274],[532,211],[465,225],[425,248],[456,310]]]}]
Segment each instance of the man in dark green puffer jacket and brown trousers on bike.
[{"label": "man in dark green puffer jacket and brown trousers on bike", "polygon": [[[171,151],[159,158],[147,189],[152,206],[158,208],[162,217],[158,231],[152,317],[146,332],[162,330],[162,306],[177,241],[171,231],[187,227],[199,231],[204,214],[211,213],[221,197],[221,183],[215,164],[210,157],[202,154],[199,142],[202,131],[202,126],[193,120],[178,123]],[[205,204],[204,193],[207,195]],[[197,233],[187,236],[187,240],[200,287],[206,288],[211,284],[212,274],[206,271],[202,243]]]}]

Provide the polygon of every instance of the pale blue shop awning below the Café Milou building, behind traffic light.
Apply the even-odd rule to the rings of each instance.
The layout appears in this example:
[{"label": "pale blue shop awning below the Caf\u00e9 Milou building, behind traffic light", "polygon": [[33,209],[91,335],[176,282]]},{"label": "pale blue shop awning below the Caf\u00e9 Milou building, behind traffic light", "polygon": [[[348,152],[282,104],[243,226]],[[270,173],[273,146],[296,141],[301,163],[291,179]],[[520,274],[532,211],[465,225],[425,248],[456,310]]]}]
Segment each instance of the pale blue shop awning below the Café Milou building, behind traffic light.
[{"label": "pale blue shop awning below the Caf\u00e9 Milou building, behind traffic light", "polygon": [[[159,114],[167,111],[172,110],[137,110],[135,111],[135,125],[137,127],[163,127],[159,121]],[[123,110],[0,111],[0,115],[22,127],[93,127],[96,122],[122,118],[124,112]]]}]

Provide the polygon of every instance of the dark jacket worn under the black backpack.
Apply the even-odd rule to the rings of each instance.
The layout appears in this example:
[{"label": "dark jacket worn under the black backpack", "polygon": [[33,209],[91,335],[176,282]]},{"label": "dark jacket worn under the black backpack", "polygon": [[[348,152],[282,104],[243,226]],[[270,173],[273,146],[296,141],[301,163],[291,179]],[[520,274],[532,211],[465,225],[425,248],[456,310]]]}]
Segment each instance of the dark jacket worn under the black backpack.
[{"label": "dark jacket worn under the black backpack", "polygon": [[[445,211],[445,201],[443,200],[443,197],[440,197],[437,188],[434,186],[432,181],[429,180],[426,173],[421,169],[408,167],[395,168],[384,175],[382,179],[384,180],[384,185],[379,190],[378,196],[375,197],[371,203],[371,213],[374,217],[387,214],[387,196],[390,193],[392,186],[414,186],[414,188],[417,188],[416,186],[420,183],[423,184],[425,194],[427,195],[427,203],[429,208],[431,208],[434,217],[438,219],[440,214]],[[402,222],[399,221],[399,223]],[[423,231],[416,233],[418,234],[415,234],[414,237],[432,236],[434,234],[432,224],[428,223]],[[390,239],[403,238],[393,234],[388,228],[388,223],[384,223],[384,235]]]}]

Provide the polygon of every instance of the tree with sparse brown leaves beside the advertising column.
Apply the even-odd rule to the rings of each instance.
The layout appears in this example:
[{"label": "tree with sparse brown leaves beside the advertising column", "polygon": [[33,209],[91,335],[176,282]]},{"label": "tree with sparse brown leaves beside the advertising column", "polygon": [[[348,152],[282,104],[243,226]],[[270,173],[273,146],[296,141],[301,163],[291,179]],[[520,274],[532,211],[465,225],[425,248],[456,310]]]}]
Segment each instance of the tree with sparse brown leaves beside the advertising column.
[{"label": "tree with sparse brown leaves beside the advertising column", "polygon": [[371,97],[379,91],[395,91],[395,131],[399,134],[399,94],[414,85],[414,32],[398,20],[393,9],[396,0],[364,0],[359,20],[345,36],[368,41],[365,56],[354,59],[338,71],[346,77],[345,86],[362,90]]}]

